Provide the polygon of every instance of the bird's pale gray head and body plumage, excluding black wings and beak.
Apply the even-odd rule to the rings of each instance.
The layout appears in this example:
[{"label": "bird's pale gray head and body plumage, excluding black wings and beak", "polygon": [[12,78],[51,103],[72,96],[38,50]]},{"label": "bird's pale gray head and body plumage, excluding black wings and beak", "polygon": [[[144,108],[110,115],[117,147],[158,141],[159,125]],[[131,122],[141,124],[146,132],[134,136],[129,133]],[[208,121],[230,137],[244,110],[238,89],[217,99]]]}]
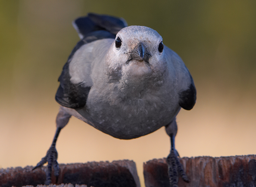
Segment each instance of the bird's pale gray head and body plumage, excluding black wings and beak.
[{"label": "bird's pale gray head and body plumage, excluding black wings and beak", "polygon": [[[158,51],[162,37],[153,29],[125,27],[117,37],[122,40],[118,49],[115,39],[81,46],[69,68],[63,70],[69,71],[71,84],[79,85],[81,92],[90,88],[87,97],[79,101],[85,105],[72,115],[84,117],[81,119],[115,138],[138,138],[174,119],[181,107],[179,94],[187,91],[193,80],[175,52],[167,46],[162,53]],[[147,46],[149,64],[129,61],[139,43]]]}]

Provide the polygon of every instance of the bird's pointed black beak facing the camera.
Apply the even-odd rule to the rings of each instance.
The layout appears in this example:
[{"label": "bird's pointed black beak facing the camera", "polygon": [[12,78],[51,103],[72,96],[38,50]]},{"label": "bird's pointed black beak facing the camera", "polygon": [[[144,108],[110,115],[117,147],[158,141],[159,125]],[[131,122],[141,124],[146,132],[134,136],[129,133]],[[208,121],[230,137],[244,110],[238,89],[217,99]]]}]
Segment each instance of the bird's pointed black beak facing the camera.
[{"label": "bird's pointed black beak facing the camera", "polygon": [[139,43],[130,53],[130,59],[128,60],[131,61],[133,59],[136,60],[141,60],[145,61],[149,64],[149,58],[150,58],[150,53],[148,52],[147,48],[143,45],[143,43]]}]

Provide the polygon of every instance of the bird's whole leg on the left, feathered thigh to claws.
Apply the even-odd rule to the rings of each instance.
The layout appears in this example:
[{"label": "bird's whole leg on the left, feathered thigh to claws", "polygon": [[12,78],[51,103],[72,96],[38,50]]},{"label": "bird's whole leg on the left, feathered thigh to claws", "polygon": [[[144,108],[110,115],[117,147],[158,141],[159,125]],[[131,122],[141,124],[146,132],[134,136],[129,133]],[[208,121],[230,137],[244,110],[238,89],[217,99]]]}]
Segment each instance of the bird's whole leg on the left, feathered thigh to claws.
[{"label": "bird's whole leg on the left, feathered thigh to claws", "polygon": [[39,163],[37,163],[37,165],[32,169],[34,170],[36,168],[40,168],[43,166],[43,164],[48,162],[48,169],[46,172],[46,181],[45,181],[46,185],[51,184],[52,167],[54,169],[54,175],[56,176],[56,183],[57,183],[58,175],[60,174],[60,168],[57,162],[58,153],[55,148],[55,145],[56,145],[58,135],[60,134],[60,130],[67,125],[67,122],[69,121],[70,117],[71,117],[70,114],[66,113],[62,108],[60,108],[60,111],[57,114],[57,118],[56,118],[57,129],[56,129],[51,147],[47,151],[46,156],[43,157],[42,160]]}]

